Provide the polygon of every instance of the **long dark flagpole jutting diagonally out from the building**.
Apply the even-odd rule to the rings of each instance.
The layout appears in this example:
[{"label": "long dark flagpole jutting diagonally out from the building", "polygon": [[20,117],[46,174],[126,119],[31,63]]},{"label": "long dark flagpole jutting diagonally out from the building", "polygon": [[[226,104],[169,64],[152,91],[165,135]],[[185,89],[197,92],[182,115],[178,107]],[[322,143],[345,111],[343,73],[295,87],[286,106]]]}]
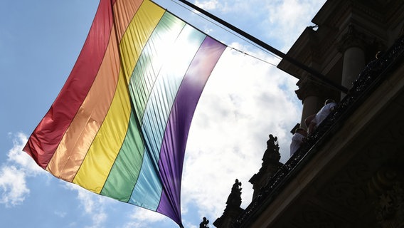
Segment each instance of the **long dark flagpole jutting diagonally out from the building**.
[{"label": "long dark flagpole jutting diagonally out from the building", "polygon": [[246,33],[245,31],[241,30],[240,28],[237,28],[233,26],[232,24],[229,24],[226,21],[223,21],[222,19],[218,18],[217,16],[214,16],[213,14],[209,13],[208,11],[205,11],[198,6],[191,4],[190,2],[186,0],[178,0],[181,1],[183,4],[186,4],[187,6],[191,7],[192,9],[195,9],[196,11],[199,11],[201,14],[208,16],[209,18],[213,19],[214,21],[217,21],[218,23],[222,24],[223,26],[226,26],[230,28],[231,30],[235,31],[236,33],[240,34],[241,36],[244,36],[245,38],[248,38],[250,41],[256,43],[257,45],[261,46],[262,48],[265,48],[267,51],[270,51],[274,53],[275,55],[279,56],[282,59],[285,59],[286,61],[289,61],[289,63],[292,63],[294,66],[297,66],[304,71],[307,71],[308,73],[311,73],[314,78],[317,78],[324,83],[326,83],[328,86],[331,86],[332,88],[339,90],[343,93],[348,93],[348,88],[341,86],[337,83],[334,83],[334,81],[329,80],[329,78],[326,78],[323,76],[321,73],[318,71],[314,70],[313,68],[310,68],[309,66],[304,65],[303,63],[300,63],[296,59],[287,56],[287,54],[282,53],[282,51],[277,50],[276,48],[270,46],[269,44],[261,41],[258,38],[255,38],[254,36],[251,36],[249,33]]}]

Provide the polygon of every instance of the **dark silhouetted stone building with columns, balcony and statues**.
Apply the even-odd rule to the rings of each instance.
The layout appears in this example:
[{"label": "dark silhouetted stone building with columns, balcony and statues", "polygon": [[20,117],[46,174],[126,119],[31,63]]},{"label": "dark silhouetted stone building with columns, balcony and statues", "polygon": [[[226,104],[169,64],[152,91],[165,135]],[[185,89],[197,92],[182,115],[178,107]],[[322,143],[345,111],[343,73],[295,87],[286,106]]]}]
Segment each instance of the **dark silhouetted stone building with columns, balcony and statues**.
[{"label": "dark silhouetted stone building with columns, balcony and statues", "polygon": [[402,0],[326,1],[287,55],[348,91],[280,62],[299,79],[302,128],[327,98],[336,109],[285,164],[270,135],[252,201],[216,227],[404,227],[403,12]]}]

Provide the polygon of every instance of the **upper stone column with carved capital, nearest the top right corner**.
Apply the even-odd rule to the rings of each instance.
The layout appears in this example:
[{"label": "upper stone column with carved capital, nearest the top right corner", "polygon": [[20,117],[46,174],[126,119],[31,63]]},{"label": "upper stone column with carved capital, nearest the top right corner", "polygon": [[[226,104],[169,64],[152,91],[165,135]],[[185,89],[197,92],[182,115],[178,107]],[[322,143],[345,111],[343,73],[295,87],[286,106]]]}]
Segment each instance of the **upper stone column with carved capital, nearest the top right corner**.
[{"label": "upper stone column with carved capital, nearest the top right corner", "polygon": [[[351,25],[340,41],[340,51],[344,55],[341,85],[348,89],[352,87],[353,81],[358,78],[366,63],[364,37]],[[341,99],[345,95],[341,93]]]}]

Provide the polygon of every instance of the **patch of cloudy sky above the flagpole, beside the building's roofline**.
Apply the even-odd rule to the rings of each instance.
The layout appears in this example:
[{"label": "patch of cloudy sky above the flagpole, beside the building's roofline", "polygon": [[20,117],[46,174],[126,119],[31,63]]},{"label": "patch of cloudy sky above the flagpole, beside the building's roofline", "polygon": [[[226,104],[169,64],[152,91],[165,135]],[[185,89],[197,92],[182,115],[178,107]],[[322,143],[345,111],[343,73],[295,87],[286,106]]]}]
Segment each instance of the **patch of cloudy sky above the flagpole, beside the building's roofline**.
[{"label": "patch of cloudy sky above the flagpole, beside the building's roofline", "polygon": [[[196,5],[284,51],[325,0],[198,0]],[[206,31],[207,29],[204,29]],[[209,30],[211,31],[211,29]]]}]

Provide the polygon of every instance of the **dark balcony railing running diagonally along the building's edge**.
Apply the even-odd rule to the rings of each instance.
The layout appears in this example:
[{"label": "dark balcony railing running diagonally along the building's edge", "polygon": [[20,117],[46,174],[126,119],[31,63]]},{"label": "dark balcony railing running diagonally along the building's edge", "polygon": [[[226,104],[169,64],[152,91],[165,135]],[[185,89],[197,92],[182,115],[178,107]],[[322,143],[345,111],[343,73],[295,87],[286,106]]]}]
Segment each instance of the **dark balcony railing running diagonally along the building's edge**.
[{"label": "dark balcony railing running diagonally along the building's edge", "polygon": [[285,165],[270,177],[268,184],[263,187],[250,205],[240,214],[233,223],[233,227],[242,227],[245,222],[254,221],[258,209],[266,207],[287,185],[294,175],[299,172],[311,158],[319,151],[319,146],[329,140],[341,128],[344,121],[356,110],[366,98],[375,90],[389,73],[402,63],[404,58],[404,36],[398,39],[388,51],[383,53],[376,61],[368,65],[353,82],[349,93],[330,115],[321,122],[316,130],[308,135],[307,140],[294,152]]}]

